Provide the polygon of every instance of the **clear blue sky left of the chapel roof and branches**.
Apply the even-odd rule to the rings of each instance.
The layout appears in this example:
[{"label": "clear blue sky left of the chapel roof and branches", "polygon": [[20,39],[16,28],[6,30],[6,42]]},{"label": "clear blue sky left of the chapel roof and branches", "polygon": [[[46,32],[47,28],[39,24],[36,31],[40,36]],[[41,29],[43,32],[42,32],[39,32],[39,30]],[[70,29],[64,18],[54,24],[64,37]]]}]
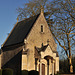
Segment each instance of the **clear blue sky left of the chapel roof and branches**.
[{"label": "clear blue sky left of the chapel roof and branches", "polygon": [[0,48],[17,22],[16,9],[23,6],[25,2],[27,0],[0,0]]}]

